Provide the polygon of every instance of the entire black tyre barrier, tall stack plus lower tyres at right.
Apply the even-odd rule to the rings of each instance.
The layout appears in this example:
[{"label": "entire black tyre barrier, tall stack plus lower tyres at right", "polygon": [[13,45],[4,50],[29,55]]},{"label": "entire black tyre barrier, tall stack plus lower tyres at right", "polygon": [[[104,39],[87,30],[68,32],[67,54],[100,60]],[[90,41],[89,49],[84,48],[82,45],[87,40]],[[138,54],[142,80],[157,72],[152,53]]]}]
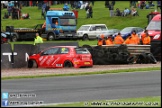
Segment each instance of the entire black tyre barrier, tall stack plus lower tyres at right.
[{"label": "entire black tyre barrier, tall stack plus lower tyres at right", "polygon": [[146,64],[157,63],[157,60],[151,53],[142,53],[139,55],[131,55],[126,45],[118,47],[102,47],[83,45],[92,54],[94,65],[107,65],[107,64]]}]

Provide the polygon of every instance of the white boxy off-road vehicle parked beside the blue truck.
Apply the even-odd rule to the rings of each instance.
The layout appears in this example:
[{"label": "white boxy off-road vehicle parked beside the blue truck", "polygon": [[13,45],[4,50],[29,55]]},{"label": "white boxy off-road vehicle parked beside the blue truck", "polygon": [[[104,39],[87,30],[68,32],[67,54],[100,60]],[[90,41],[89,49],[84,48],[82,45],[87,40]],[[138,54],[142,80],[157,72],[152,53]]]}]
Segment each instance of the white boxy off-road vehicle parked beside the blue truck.
[{"label": "white boxy off-road vehicle parked beside the blue truck", "polygon": [[105,24],[87,24],[82,25],[77,30],[77,36],[82,40],[89,40],[89,39],[96,39],[97,35],[100,35],[102,33],[105,34],[107,32],[108,28]]}]

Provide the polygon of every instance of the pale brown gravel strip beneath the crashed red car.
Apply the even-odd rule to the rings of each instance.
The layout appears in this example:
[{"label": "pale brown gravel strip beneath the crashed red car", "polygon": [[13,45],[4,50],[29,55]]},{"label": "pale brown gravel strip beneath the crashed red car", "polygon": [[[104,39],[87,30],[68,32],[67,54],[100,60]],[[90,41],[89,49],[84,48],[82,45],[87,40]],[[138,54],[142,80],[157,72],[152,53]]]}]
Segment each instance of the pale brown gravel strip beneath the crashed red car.
[{"label": "pale brown gravel strip beneath the crashed red car", "polygon": [[157,64],[124,64],[124,65],[94,65],[92,68],[14,68],[1,69],[1,77],[11,76],[35,76],[45,74],[66,74],[66,73],[84,73],[96,72],[105,70],[131,69],[131,68],[146,68],[146,67],[161,67],[161,62]]}]

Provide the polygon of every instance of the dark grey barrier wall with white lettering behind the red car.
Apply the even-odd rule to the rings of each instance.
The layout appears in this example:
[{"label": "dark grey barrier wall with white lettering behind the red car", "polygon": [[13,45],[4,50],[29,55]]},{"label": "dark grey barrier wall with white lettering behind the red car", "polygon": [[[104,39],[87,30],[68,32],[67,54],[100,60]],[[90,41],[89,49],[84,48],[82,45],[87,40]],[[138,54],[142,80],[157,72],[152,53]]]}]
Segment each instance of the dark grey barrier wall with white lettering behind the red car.
[{"label": "dark grey barrier wall with white lettering behind the red car", "polygon": [[1,68],[27,67],[28,57],[34,53],[52,46],[79,46],[78,42],[42,43],[42,44],[14,44],[14,51],[10,44],[1,44]]}]

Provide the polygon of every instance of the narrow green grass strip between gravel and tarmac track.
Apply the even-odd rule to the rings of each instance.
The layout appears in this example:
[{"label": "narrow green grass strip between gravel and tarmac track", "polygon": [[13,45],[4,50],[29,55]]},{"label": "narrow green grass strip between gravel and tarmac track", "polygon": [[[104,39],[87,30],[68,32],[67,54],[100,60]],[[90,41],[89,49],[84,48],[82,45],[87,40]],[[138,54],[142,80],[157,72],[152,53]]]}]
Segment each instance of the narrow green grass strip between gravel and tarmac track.
[{"label": "narrow green grass strip between gravel and tarmac track", "polygon": [[1,80],[9,79],[22,79],[22,78],[42,78],[42,77],[57,77],[57,76],[78,76],[78,75],[92,75],[92,74],[108,74],[108,73],[120,73],[120,72],[145,72],[151,70],[161,70],[161,67],[150,67],[150,68],[134,68],[134,69],[119,69],[119,70],[107,70],[101,72],[81,72],[81,73],[70,73],[70,74],[48,74],[48,75],[36,75],[36,76],[12,76],[3,77]]}]

